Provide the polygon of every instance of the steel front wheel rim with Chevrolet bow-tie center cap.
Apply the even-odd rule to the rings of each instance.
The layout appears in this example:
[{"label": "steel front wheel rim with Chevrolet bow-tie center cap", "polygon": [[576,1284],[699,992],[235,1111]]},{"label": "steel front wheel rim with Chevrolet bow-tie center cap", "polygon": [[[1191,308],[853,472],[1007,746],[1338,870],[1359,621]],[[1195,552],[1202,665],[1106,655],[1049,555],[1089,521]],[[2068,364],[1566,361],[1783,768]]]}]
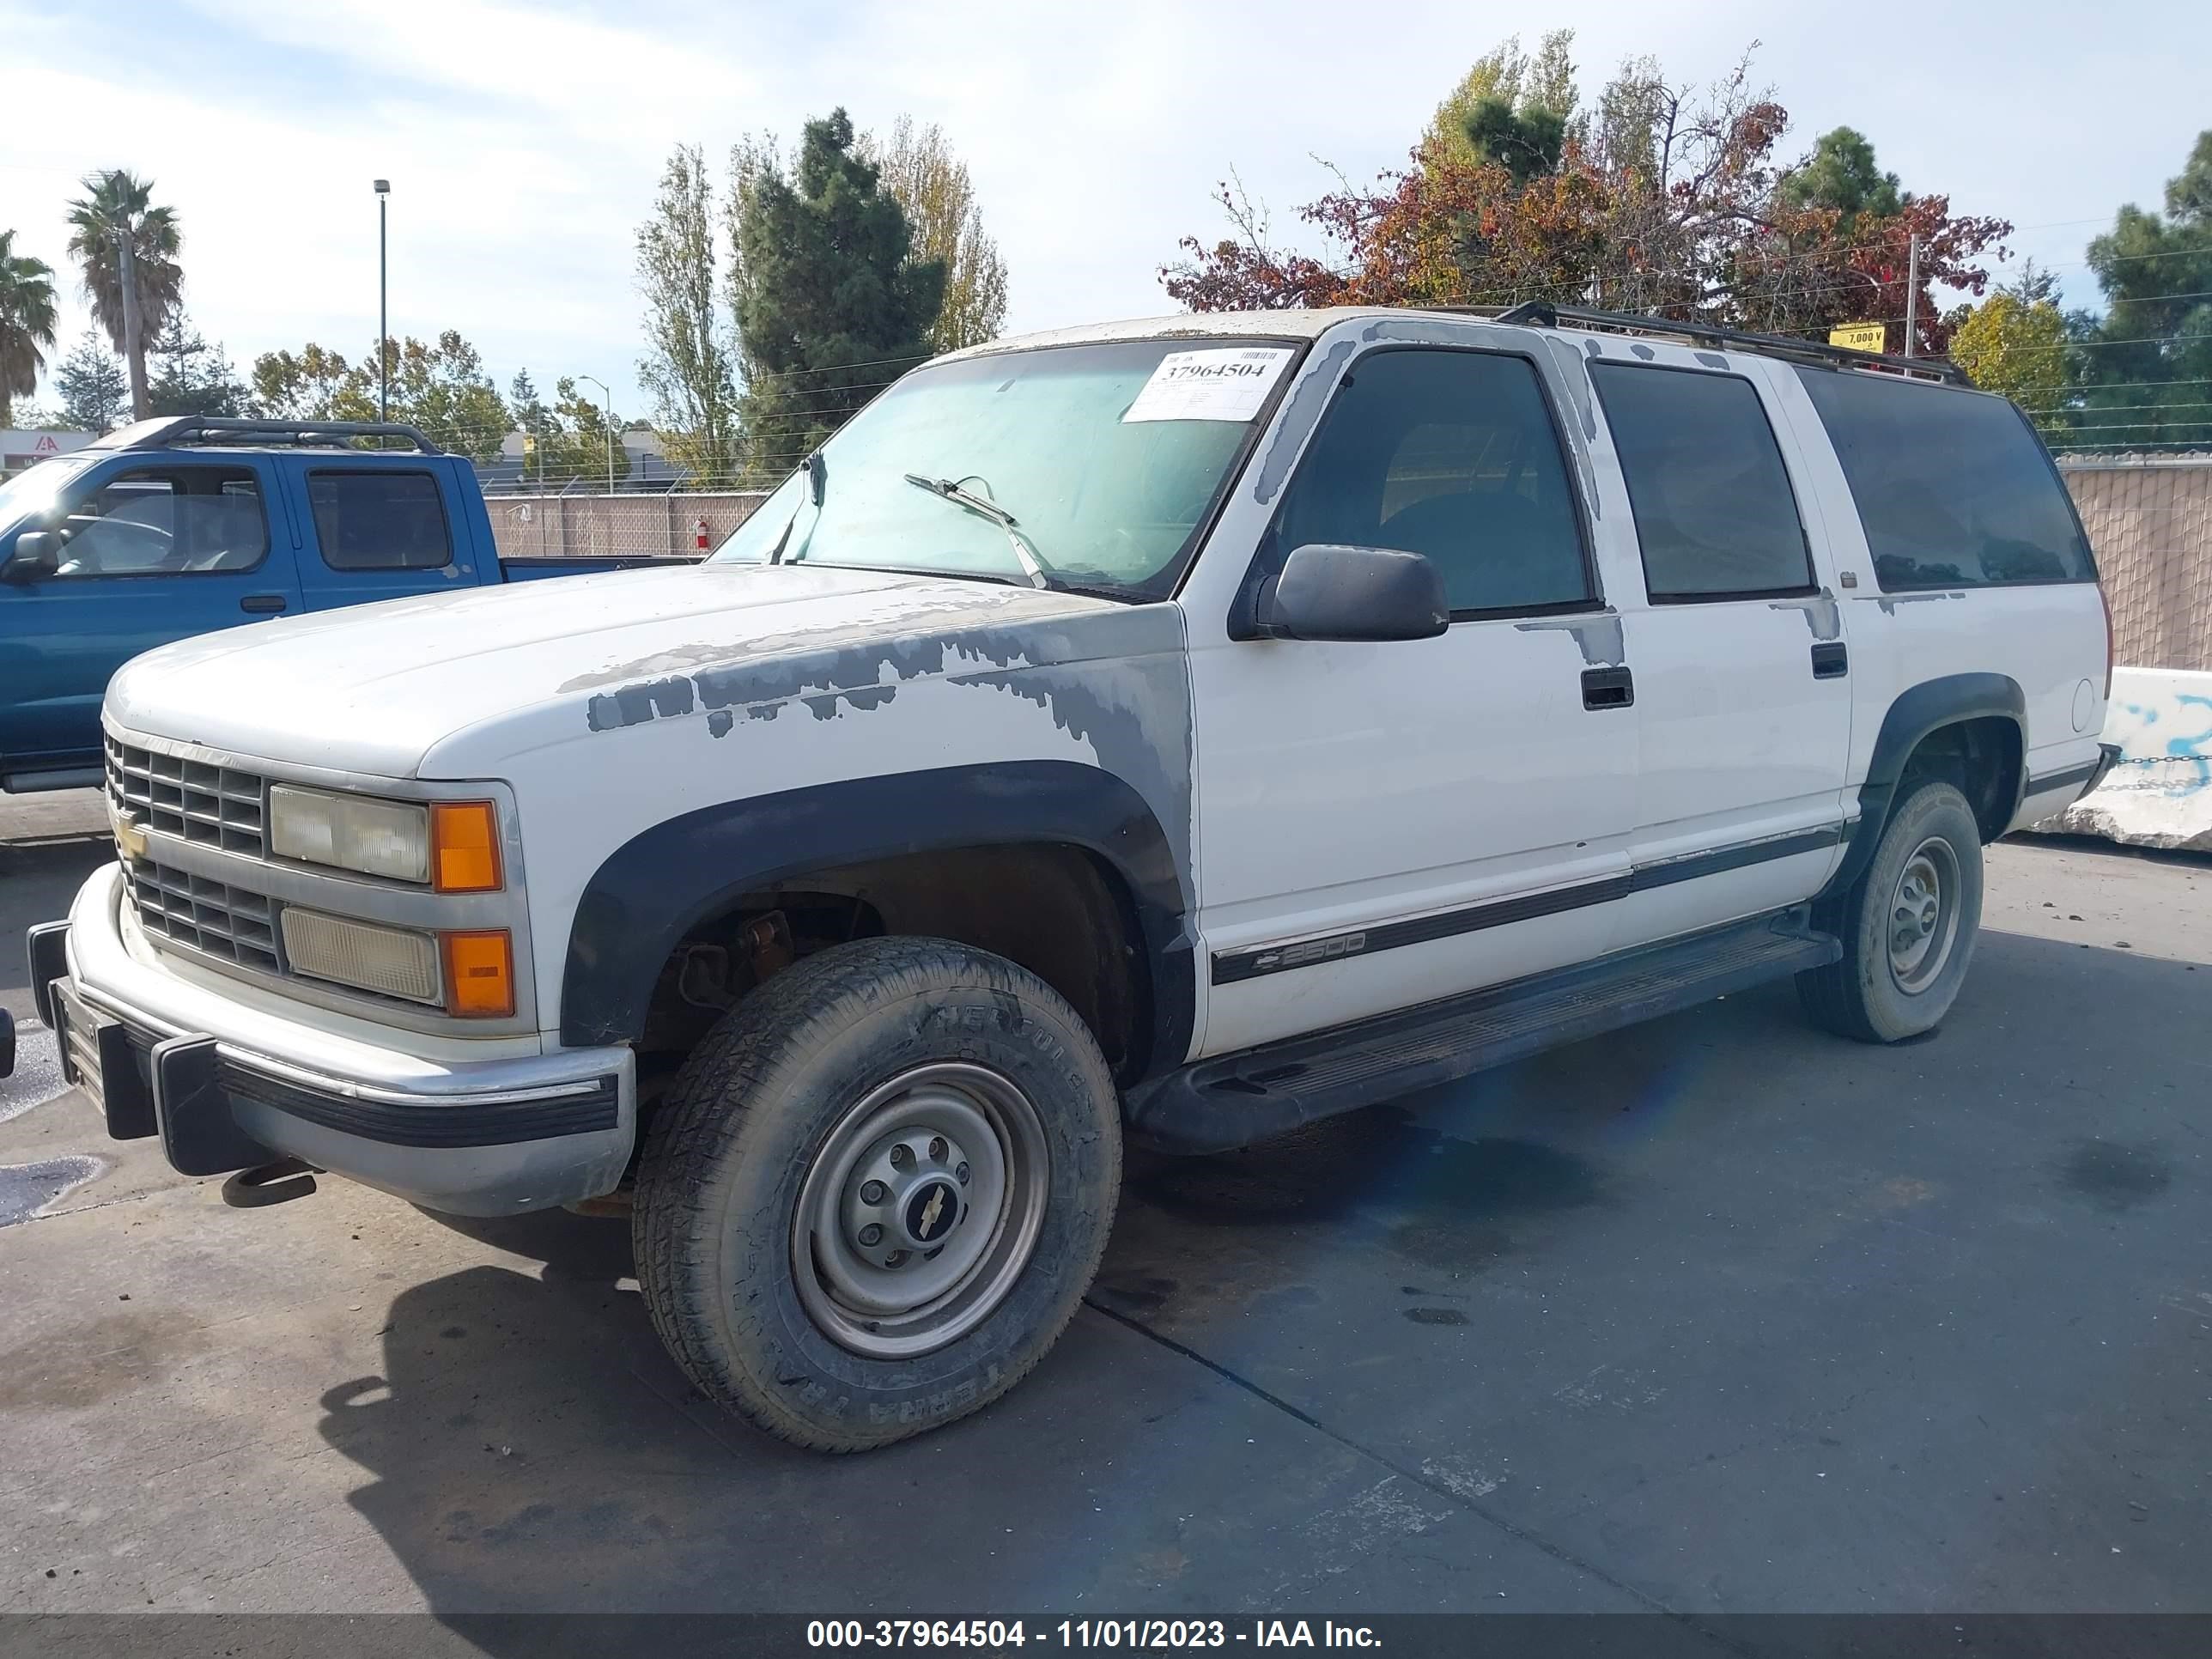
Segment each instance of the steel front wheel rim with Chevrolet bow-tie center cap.
[{"label": "steel front wheel rim with Chevrolet bow-tie center cap", "polygon": [[1037,1108],[984,1066],[869,1091],[823,1137],[792,1214],[792,1276],[821,1332],[869,1358],[958,1340],[1037,1245],[1051,1155]]}]

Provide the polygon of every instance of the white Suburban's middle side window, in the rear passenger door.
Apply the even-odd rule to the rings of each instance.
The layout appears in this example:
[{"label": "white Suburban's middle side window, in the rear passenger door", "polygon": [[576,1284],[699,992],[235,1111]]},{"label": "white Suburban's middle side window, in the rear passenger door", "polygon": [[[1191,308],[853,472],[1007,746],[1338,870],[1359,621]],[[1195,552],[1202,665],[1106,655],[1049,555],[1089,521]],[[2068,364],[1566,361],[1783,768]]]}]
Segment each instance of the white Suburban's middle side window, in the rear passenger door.
[{"label": "white Suburban's middle side window, in the rear passenger door", "polygon": [[1593,363],[1652,602],[1812,591],[1812,553],[1759,389],[1734,374]]}]

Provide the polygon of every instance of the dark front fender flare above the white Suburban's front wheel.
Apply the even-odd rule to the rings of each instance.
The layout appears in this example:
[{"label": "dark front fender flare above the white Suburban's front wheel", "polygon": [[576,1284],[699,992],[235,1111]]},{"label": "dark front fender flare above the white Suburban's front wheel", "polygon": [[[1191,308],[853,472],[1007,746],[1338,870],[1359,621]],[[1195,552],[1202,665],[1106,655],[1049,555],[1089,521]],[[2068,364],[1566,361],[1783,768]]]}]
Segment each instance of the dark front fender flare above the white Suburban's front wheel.
[{"label": "dark front fender flare above the white Suburban's front wheel", "polygon": [[1190,885],[1144,796],[1077,761],[816,783],[644,830],[584,883],[568,927],[560,1037],[573,1048],[637,1042],[668,953],[748,891],[869,858],[1035,843],[1082,847],[1121,878],[1150,969],[1146,1068],[1179,1066],[1197,1020]]}]

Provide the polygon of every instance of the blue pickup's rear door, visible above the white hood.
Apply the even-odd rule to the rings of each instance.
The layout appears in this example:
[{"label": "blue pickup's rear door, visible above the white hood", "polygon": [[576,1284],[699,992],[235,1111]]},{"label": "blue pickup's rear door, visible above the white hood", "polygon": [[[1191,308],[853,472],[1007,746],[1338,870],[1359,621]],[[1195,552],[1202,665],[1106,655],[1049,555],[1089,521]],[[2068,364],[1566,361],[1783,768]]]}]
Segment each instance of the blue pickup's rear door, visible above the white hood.
[{"label": "blue pickup's rear door, visible above the white hood", "polygon": [[471,586],[476,557],[458,465],[449,456],[305,462],[307,608]]}]

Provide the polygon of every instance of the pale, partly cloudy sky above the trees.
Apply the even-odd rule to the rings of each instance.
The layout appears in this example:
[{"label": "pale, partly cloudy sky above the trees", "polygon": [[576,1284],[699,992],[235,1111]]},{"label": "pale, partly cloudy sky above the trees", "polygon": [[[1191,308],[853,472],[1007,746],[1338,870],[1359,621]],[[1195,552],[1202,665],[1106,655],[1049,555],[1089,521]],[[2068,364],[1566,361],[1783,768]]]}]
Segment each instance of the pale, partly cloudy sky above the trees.
[{"label": "pale, partly cloudy sky above the trees", "polygon": [[[1838,124],[1909,190],[1997,215],[2017,254],[2095,303],[2081,250],[2121,201],[2157,208],[2212,126],[2212,7],[1924,0],[1909,33],[1801,0],[1398,0],[1097,7],[920,0],[0,0],[0,228],[60,274],[60,352],[88,314],[64,259],[77,181],[150,177],[184,226],[186,307],[243,372],[376,336],[376,199],[392,179],[392,332],[460,330],[507,385],[597,376],[617,411],[644,349],[635,228],[670,146],[728,155],[843,104],[936,122],[1009,268],[1011,332],[1175,310],[1177,237],[1223,234],[1234,170],[1285,237],[1296,208],[1405,161],[1467,66],[1575,29],[1586,97],[1624,55],[1710,82],[1759,42],[1787,153]],[[1898,13],[1902,15],[1902,13]],[[1318,159],[1316,159],[1318,157]],[[40,398],[51,398],[46,387]]]}]

